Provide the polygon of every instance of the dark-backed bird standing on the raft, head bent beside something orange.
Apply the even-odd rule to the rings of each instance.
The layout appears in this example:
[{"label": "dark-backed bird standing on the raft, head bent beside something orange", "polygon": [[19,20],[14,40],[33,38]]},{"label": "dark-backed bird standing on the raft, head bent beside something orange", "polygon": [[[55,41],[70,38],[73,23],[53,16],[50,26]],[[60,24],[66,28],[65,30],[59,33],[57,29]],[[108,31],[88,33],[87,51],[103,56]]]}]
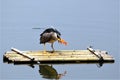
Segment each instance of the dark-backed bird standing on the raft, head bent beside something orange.
[{"label": "dark-backed bird standing on the raft, head bent beside something orange", "polygon": [[55,51],[53,46],[55,41],[67,45],[67,42],[60,36],[61,33],[55,28],[47,28],[40,34],[40,44],[44,44],[44,53],[46,53],[46,43],[51,43],[52,52]]}]

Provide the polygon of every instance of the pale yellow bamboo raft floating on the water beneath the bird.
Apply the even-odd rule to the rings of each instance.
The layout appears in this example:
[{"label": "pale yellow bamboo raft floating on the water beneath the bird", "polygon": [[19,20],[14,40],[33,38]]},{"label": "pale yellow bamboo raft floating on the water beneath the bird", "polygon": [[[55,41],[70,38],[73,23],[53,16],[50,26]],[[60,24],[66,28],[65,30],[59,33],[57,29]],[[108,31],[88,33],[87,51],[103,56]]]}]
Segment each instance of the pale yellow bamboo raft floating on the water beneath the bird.
[{"label": "pale yellow bamboo raft floating on the water beneath the bird", "polygon": [[54,53],[47,51],[20,51],[11,49],[3,55],[3,61],[8,63],[93,63],[114,62],[114,58],[105,51],[87,50],[60,50]]}]

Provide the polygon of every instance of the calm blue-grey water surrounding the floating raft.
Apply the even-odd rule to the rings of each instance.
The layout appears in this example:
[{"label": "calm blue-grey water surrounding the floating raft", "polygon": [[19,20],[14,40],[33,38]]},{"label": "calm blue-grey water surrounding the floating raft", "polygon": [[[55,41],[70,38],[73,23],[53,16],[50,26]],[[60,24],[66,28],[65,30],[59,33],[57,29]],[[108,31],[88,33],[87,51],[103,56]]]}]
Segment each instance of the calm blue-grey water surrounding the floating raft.
[{"label": "calm blue-grey water surrounding the floating raft", "polygon": [[[4,0],[0,26],[0,79],[119,80],[118,0]],[[115,58],[113,64],[44,65],[55,72],[48,76],[42,65],[3,63],[3,55],[11,47],[20,50],[42,50],[39,35],[44,28],[54,26],[69,45],[55,43],[56,50],[86,49],[92,45],[106,50]],[[51,50],[50,45],[47,49]],[[42,68],[42,69],[41,69]],[[42,70],[42,71],[41,71]],[[45,71],[44,71],[45,70]],[[49,72],[49,71],[47,71]],[[52,74],[51,74],[52,75]]]}]

